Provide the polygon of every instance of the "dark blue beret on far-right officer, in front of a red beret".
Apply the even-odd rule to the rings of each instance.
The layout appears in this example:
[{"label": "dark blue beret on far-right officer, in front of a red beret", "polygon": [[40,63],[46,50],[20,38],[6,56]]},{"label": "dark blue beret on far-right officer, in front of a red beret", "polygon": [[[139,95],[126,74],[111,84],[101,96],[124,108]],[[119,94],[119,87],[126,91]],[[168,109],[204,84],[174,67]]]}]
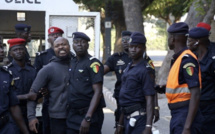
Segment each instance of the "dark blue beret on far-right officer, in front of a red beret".
[{"label": "dark blue beret on far-right officer, in front of a red beret", "polygon": [[202,27],[195,27],[189,31],[189,37],[193,39],[203,38],[209,36],[209,31]]}]

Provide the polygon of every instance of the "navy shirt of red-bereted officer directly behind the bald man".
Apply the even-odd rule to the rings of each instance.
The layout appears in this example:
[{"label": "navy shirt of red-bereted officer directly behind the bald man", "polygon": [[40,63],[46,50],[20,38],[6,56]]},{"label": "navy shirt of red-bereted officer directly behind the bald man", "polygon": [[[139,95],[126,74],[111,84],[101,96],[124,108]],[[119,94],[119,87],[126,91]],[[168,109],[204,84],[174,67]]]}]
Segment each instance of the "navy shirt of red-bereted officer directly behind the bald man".
[{"label": "navy shirt of red-bereted officer directly behind the bald man", "polygon": [[34,61],[34,67],[36,68],[37,72],[44,66],[50,62],[50,59],[55,56],[55,52],[52,48],[49,48],[45,51],[38,52],[36,54],[36,58]]}]

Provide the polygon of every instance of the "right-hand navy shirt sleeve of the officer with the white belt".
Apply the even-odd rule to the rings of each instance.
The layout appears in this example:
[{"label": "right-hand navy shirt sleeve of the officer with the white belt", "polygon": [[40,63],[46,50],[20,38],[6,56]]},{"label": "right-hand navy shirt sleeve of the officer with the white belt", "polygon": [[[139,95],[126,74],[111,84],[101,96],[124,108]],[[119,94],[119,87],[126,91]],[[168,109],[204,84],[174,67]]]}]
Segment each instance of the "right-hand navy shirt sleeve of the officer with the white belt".
[{"label": "right-hand navy shirt sleeve of the officer with the white belt", "polygon": [[142,84],[142,89],[145,96],[155,95],[154,80],[150,76],[150,72],[147,69],[143,72]]}]

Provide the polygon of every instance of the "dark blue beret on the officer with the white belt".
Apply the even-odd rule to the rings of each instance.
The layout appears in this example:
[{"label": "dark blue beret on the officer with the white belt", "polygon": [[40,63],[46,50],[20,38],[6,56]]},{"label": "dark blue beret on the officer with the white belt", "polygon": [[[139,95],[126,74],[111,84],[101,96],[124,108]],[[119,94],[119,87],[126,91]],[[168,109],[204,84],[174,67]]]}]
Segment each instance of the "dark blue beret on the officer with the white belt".
[{"label": "dark blue beret on the officer with the white belt", "polygon": [[140,32],[133,32],[131,34],[129,44],[130,45],[138,45],[138,44],[144,44],[146,43],[146,37],[140,33]]}]

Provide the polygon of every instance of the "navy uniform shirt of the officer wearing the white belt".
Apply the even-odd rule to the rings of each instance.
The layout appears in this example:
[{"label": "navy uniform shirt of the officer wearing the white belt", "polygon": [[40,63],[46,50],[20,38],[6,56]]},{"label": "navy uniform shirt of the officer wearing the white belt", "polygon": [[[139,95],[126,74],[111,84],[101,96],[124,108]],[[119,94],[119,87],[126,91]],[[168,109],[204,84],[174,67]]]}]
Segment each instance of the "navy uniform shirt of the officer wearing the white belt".
[{"label": "navy uniform shirt of the officer wearing the white belt", "polygon": [[150,76],[146,60],[135,66],[129,63],[122,75],[122,87],[119,94],[119,103],[128,107],[138,103],[146,106],[145,96],[155,95],[154,80]]}]

